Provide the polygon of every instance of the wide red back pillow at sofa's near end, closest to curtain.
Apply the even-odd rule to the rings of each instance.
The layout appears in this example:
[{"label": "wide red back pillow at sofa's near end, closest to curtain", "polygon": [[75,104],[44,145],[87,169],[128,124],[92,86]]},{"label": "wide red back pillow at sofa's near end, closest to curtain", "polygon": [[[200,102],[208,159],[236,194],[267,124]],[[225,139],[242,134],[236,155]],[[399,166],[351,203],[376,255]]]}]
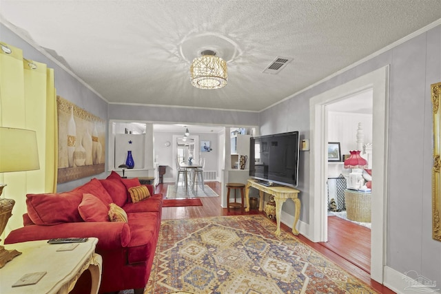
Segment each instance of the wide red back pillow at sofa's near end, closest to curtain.
[{"label": "wide red back pillow at sofa's near end, closest to curtain", "polygon": [[34,224],[61,224],[82,222],[78,206],[83,199],[81,191],[63,193],[28,194],[26,207]]}]

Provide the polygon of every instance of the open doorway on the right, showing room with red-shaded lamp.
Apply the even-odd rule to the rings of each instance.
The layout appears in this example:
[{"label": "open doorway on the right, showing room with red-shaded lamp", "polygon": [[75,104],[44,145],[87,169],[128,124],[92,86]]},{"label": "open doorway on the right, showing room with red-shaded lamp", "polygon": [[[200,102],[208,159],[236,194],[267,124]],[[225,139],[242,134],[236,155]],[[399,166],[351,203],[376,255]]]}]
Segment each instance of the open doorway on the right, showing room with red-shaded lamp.
[{"label": "open doorway on the right, showing room with red-shaded lamp", "polygon": [[[371,271],[371,207],[363,201],[353,206],[352,202],[345,202],[345,189],[367,189],[362,171],[372,168],[370,148],[372,143],[372,89],[359,92],[342,100],[329,103],[325,107],[327,117],[327,140],[339,148],[336,158],[328,159],[327,174],[327,242],[320,242],[322,246],[337,253],[345,260],[356,264],[367,273]],[[367,160],[365,169],[345,168],[343,156],[349,156],[350,150],[360,150],[360,156]],[[329,151],[328,151],[329,152]],[[340,156],[341,155],[341,156]],[[373,154],[375,156],[375,154]],[[357,182],[349,180],[349,176],[355,177],[359,172],[361,180]],[[375,172],[375,171],[374,171]],[[365,175],[365,178],[368,174]],[[352,195],[352,194],[351,194]],[[371,198],[370,191],[358,193],[357,197],[366,196]],[[363,198],[364,199],[364,198]],[[354,216],[356,209],[356,216]],[[369,211],[369,220],[365,211]],[[349,216],[349,218],[348,218]],[[356,217],[356,218],[355,218]],[[359,220],[360,222],[354,222]],[[362,222],[361,222],[362,221]]]}]

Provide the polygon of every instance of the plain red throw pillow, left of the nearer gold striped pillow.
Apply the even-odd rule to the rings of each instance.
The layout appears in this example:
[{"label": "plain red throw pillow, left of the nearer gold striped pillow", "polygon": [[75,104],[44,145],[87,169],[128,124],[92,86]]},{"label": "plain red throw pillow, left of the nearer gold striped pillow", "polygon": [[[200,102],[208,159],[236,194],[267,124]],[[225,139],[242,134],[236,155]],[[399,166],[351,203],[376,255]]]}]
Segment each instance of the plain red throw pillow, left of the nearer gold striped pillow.
[{"label": "plain red throw pillow, left of the nearer gold striped pillow", "polygon": [[85,222],[109,221],[109,216],[107,216],[109,209],[107,209],[107,206],[90,193],[83,193],[83,200],[78,206],[78,211]]}]

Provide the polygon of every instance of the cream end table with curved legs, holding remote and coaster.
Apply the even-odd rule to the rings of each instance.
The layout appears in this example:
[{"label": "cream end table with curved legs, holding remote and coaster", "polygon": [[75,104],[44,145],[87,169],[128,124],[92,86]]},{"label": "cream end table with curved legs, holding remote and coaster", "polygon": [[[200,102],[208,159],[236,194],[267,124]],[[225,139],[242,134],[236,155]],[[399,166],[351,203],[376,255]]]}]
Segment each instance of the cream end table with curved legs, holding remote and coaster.
[{"label": "cream end table with curved legs, holding remote and coaster", "polygon": [[[101,255],[95,253],[97,238],[76,243],[72,251],[57,251],[63,244],[48,244],[48,240],[5,245],[22,254],[0,269],[0,293],[69,293],[86,269],[92,275],[91,294],[98,293],[101,284]],[[73,244],[73,243],[70,243]],[[47,272],[37,284],[12,287],[26,273]]]}]

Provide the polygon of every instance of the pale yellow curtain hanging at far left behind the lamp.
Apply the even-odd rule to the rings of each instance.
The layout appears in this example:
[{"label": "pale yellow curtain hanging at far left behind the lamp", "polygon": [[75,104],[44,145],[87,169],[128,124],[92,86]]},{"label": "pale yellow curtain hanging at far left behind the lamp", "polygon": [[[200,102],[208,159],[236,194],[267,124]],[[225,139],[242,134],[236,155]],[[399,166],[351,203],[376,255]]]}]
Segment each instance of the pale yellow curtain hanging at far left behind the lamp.
[{"label": "pale yellow curtain hanging at far left behind the lamp", "polygon": [[21,216],[26,212],[27,193],[56,189],[57,153],[50,153],[57,149],[54,147],[57,142],[57,105],[53,86],[53,70],[48,70],[43,63],[23,59],[22,50],[0,42],[0,126],[36,131],[40,161],[37,171],[0,174],[0,182],[8,185],[3,189],[2,197],[15,200],[6,235],[23,226]]}]

